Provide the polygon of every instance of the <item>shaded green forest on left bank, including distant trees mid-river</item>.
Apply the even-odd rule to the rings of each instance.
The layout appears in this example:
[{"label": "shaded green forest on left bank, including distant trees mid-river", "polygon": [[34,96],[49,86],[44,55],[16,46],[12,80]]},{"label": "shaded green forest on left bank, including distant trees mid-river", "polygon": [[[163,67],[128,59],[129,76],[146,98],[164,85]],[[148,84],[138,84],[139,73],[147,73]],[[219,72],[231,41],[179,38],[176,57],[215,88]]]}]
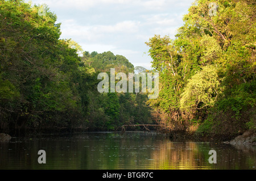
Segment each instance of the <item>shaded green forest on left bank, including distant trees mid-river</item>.
[{"label": "shaded green forest on left bank, including distant trees mid-river", "polygon": [[[57,16],[23,1],[0,1],[0,128],[2,132],[114,130],[151,123],[145,94],[100,94],[101,71],[133,72],[112,52],[82,52],[60,38]],[[82,56],[79,56],[82,54]]]}]

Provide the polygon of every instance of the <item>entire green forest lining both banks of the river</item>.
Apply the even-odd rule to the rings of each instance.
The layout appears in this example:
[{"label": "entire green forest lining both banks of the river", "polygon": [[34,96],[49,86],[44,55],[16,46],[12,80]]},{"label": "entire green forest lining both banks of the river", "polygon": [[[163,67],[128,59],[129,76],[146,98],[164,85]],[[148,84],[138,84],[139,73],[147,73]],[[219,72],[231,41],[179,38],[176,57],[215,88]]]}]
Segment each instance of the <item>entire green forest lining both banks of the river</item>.
[{"label": "entire green forest lining both banks of the river", "polygon": [[[0,129],[115,130],[159,124],[196,137],[256,129],[255,2],[196,1],[176,38],[146,43],[159,96],[97,91],[98,73],[148,71],[112,52],[87,52],[60,39],[49,9],[0,1]],[[212,5],[212,6],[209,6]],[[210,12],[210,13],[209,13]]]}]

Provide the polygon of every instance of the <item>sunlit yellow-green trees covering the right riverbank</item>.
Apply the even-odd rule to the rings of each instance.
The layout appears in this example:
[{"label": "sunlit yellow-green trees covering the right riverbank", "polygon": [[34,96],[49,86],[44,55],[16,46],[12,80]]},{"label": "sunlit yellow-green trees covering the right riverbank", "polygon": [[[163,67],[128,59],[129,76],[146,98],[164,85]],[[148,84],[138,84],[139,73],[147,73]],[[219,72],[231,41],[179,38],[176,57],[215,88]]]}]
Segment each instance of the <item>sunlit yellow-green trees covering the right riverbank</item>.
[{"label": "sunlit yellow-green trees covering the right riverbank", "polygon": [[230,137],[256,128],[255,2],[210,3],[189,8],[176,39],[146,43],[160,73],[159,97],[149,102],[174,132]]}]

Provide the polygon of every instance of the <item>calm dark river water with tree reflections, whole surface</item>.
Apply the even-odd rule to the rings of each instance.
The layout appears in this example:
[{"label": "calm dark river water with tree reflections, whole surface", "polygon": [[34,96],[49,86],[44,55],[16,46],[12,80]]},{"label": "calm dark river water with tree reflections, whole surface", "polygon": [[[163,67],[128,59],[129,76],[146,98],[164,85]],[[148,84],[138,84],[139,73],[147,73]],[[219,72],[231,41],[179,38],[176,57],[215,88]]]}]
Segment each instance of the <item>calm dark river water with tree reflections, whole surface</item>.
[{"label": "calm dark river water with tree reflections, whole surface", "polygon": [[[39,150],[46,164],[39,164]],[[210,150],[216,163],[209,163]],[[212,160],[212,158],[211,158]],[[256,148],[217,142],[174,142],[162,134],[97,132],[12,138],[0,145],[0,169],[246,169],[255,170]]]}]

